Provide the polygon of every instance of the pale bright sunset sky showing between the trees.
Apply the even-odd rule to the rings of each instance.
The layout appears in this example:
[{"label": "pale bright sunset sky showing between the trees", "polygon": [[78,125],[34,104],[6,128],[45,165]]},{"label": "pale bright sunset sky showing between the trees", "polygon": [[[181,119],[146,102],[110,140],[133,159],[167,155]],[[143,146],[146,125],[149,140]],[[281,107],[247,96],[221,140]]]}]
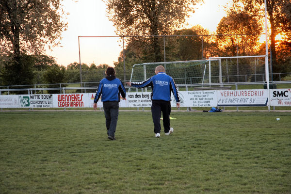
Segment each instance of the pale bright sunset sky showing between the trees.
[{"label": "pale bright sunset sky showing between the trees", "polygon": [[[216,31],[216,26],[225,16],[223,6],[230,0],[205,0],[196,6],[195,13],[189,18],[189,28],[201,25]],[[64,10],[68,12],[68,30],[62,33],[62,47],[47,49],[49,56],[55,57],[59,65],[79,63],[78,36],[115,36],[113,23],[106,17],[106,5],[102,0],[64,0]],[[122,50],[118,37],[80,38],[81,63],[91,65],[113,65]]]}]

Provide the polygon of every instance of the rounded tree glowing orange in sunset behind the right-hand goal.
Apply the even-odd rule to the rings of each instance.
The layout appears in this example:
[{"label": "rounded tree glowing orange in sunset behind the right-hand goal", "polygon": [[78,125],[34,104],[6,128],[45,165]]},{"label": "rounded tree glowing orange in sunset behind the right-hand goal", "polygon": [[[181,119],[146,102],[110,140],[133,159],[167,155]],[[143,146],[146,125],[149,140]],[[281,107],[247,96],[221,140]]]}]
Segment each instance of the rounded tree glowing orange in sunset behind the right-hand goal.
[{"label": "rounded tree glowing orange in sunset behind the right-hand goal", "polygon": [[[224,56],[254,55],[259,47],[259,36],[262,31],[262,23],[244,10],[238,11],[232,6],[227,16],[223,17],[217,26],[216,42]],[[227,35],[223,35],[227,34]],[[236,35],[231,35],[236,34]],[[238,76],[230,78],[231,81],[240,81],[240,74],[251,74],[251,66],[245,59],[236,60],[236,65],[230,65],[228,72]]]}]

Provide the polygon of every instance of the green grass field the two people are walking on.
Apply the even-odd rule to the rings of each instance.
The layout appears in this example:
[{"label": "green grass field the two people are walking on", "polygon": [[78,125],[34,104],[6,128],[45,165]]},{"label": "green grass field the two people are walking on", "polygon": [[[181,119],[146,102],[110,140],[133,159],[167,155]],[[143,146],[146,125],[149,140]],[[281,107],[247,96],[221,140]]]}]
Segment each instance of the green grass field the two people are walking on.
[{"label": "green grass field the two people are walking on", "polygon": [[[291,113],[0,112],[0,194],[291,194]],[[275,118],[280,118],[276,121]]]}]

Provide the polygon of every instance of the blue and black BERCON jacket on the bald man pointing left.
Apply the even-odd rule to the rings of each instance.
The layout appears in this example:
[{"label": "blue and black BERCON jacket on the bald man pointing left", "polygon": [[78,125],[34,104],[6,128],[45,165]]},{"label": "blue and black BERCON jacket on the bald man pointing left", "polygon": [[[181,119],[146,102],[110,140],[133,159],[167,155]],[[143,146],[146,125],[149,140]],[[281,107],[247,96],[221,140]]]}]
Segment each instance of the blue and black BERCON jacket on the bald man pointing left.
[{"label": "blue and black BERCON jacket on the bald man pointing left", "polygon": [[176,99],[176,102],[180,102],[178,89],[173,78],[163,72],[154,75],[153,77],[149,78],[146,81],[132,82],[131,86],[137,88],[144,88],[150,86],[152,88],[151,94],[152,100],[171,101],[171,91],[172,91]]}]

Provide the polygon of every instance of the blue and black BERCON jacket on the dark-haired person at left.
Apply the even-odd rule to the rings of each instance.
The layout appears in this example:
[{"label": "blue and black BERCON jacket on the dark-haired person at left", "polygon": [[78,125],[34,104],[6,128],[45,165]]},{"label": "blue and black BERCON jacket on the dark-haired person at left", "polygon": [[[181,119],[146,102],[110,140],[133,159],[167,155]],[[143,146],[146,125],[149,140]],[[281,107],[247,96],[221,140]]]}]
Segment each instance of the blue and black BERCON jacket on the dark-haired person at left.
[{"label": "blue and black BERCON jacket on the dark-haired person at left", "polygon": [[99,83],[98,90],[94,98],[94,103],[97,103],[100,96],[102,102],[120,102],[120,95],[122,97],[126,97],[126,90],[121,80],[119,80],[115,76],[107,76],[106,78],[103,78]]}]

